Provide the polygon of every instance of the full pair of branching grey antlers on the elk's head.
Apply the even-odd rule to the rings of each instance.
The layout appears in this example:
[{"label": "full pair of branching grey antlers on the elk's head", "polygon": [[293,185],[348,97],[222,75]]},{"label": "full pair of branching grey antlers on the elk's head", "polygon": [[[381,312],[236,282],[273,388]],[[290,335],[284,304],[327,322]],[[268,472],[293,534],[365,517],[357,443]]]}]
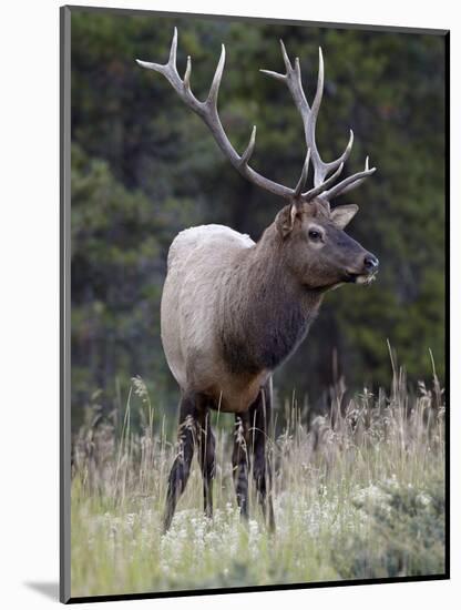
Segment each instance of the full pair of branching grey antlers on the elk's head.
[{"label": "full pair of branching grey antlers on the elk's head", "polygon": [[[324,163],[320,159],[320,155],[318,154],[316,142],[315,142],[315,126],[316,126],[318,109],[320,106],[322,89],[324,89],[324,64],[321,59],[321,51],[320,51],[320,65],[319,65],[317,93],[316,93],[316,98],[314,100],[311,109],[309,108],[303,91],[299,60],[296,59],[295,69],[293,69],[283,42],[281,42],[281,51],[283,51],[287,73],[278,74],[277,72],[262,70],[262,72],[265,72],[266,74],[275,77],[276,79],[281,80],[288,84],[288,88],[295,100],[296,106],[298,108],[303,116],[303,121],[305,125],[307,154],[303,165],[301,175],[299,177],[299,181],[296,187],[289,189],[288,186],[284,186],[283,184],[278,184],[267,177],[264,177],[262,174],[259,174],[248,165],[249,159],[252,157],[253,151],[255,149],[256,125],[253,128],[248,145],[242,155],[239,155],[236,152],[234,146],[230,144],[226,135],[226,132],[224,131],[224,128],[219,120],[219,114],[217,112],[217,95],[219,92],[219,84],[221,84],[221,79],[223,77],[224,63],[226,59],[226,51],[225,51],[224,44],[222,45],[219,61],[215,71],[215,75],[213,78],[212,85],[209,88],[208,96],[204,102],[201,102],[199,100],[197,100],[197,98],[191,91],[191,69],[192,69],[191,57],[187,57],[187,67],[184,73],[184,79],[183,80],[181,79],[176,68],[176,50],[177,50],[177,29],[175,28],[172,45],[170,49],[170,58],[165,64],[150,63],[141,60],[136,60],[136,61],[143,68],[148,68],[150,70],[160,72],[166,78],[166,80],[170,82],[170,84],[173,87],[173,89],[176,91],[176,93],[180,95],[183,102],[188,108],[191,108],[194,112],[196,112],[198,116],[201,116],[201,119],[204,121],[204,123],[208,126],[217,145],[223,151],[225,156],[230,161],[234,167],[242,175],[244,175],[247,180],[249,180],[257,186],[260,186],[262,189],[265,189],[266,191],[269,191],[275,195],[279,195],[284,199],[288,199],[295,203],[298,203],[299,201],[310,201],[311,199],[319,195],[320,193],[322,193],[321,195],[322,197],[329,200],[332,196],[339,194],[340,192],[344,193],[349,189],[357,186],[367,175],[370,175],[371,173],[375,172],[375,167],[372,167],[371,170],[368,169],[368,157],[367,157],[365,172],[355,174],[344,180],[341,183],[337,184],[329,191],[327,191],[328,186],[332,184],[334,181],[341,173],[344,167],[344,162],[346,161],[346,159],[350,153],[350,149],[352,146],[352,132],[350,132],[351,135],[350,135],[349,144],[347,145],[346,151],[342,153],[342,155],[336,161],[332,161],[330,163]],[[306,185],[310,157],[313,157],[313,163],[315,167],[315,177],[314,177],[315,185],[314,185],[314,189],[311,189],[310,191],[303,193],[303,189]],[[326,177],[327,174],[332,170],[336,170],[336,172],[331,174],[329,177]]]}]

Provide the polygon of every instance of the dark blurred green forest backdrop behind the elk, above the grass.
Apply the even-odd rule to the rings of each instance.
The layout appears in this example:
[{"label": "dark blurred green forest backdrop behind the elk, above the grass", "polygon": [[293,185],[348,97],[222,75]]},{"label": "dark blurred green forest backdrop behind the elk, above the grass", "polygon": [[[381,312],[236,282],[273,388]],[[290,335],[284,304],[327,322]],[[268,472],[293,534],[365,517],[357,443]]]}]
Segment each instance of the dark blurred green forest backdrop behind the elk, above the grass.
[{"label": "dark blurred green forest backdrop behind the elk, above the grass", "polygon": [[348,232],[381,263],[370,287],[329,294],[308,339],[275,376],[279,399],[321,405],[344,375],[350,390],[388,386],[387,339],[409,379],[444,377],[444,39],[195,18],[72,10],[72,424],[98,401],[112,409],[140,375],[156,414],[175,414],[178,388],[160,340],[168,246],[187,226],[222,223],[257,240],[283,202],[247,183],[201,120],[157,73],[178,28],[178,71],[192,55],[204,99],[227,51],[219,92],[226,132],[242,152],[257,125],[252,165],[295,185],[305,156],[299,115],[281,83],[278,39],[299,55],[311,101],[321,45],[326,84],[317,126],[327,161],[377,173],[335,203],[357,203]]}]

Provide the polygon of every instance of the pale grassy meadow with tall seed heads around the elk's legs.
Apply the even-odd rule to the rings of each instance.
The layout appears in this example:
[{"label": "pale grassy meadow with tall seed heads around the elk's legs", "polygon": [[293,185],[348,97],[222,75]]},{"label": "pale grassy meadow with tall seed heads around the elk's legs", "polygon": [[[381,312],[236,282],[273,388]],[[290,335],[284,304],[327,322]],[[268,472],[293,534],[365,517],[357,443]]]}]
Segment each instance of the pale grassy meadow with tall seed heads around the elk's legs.
[{"label": "pale grassy meadow with tall seed heads around the elk's legs", "polygon": [[311,417],[296,399],[279,406],[270,438],[275,535],[255,501],[240,522],[234,419],[218,414],[214,519],[202,514],[194,459],[162,536],[175,446],[154,425],[162,419],[151,398],[134,379],[123,418],[93,409],[74,439],[72,597],[444,572],[444,401],[436,376],[413,395],[395,370],[387,392],[365,389],[348,401],[338,384],[325,416]]}]

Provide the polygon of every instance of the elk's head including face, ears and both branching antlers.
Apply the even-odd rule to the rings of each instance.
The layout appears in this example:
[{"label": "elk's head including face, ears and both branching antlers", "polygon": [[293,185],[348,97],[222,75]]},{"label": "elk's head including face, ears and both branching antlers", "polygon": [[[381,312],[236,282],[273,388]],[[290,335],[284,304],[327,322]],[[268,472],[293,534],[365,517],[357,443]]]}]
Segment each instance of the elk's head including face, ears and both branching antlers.
[{"label": "elk's head including face, ears and both branching antlers", "polygon": [[[256,142],[256,125],[253,128],[248,145],[243,154],[236,152],[224,131],[217,111],[217,96],[226,57],[224,44],[208,96],[203,102],[197,100],[191,91],[191,57],[187,57],[184,79],[181,79],[177,72],[176,28],[174,29],[170,59],[165,64],[136,61],[143,68],[160,72],[167,79],[183,102],[208,126],[219,149],[243,176],[287,201],[285,207],[276,216],[275,227],[281,242],[284,263],[300,284],[311,289],[328,289],[348,282],[369,283],[378,271],[378,258],[363,250],[344,231],[357,213],[358,206],[340,205],[331,210],[330,201],[335,196],[357,187],[376,171],[376,167],[369,167],[367,156],[365,169],[361,172],[337,183],[352,149],[354,133],[350,130],[349,142],[338,159],[328,163],[321,160],[316,144],[316,123],[324,93],[321,49],[319,49],[317,91],[314,102],[309,106],[301,84],[299,58],[296,58],[295,65],[293,65],[281,40],[280,45],[286,72],[281,74],[270,70],[260,71],[288,87],[303,120],[307,153],[301,175],[294,189],[273,182],[249,166]],[[310,162],[314,166],[314,185],[306,190]]]}]

